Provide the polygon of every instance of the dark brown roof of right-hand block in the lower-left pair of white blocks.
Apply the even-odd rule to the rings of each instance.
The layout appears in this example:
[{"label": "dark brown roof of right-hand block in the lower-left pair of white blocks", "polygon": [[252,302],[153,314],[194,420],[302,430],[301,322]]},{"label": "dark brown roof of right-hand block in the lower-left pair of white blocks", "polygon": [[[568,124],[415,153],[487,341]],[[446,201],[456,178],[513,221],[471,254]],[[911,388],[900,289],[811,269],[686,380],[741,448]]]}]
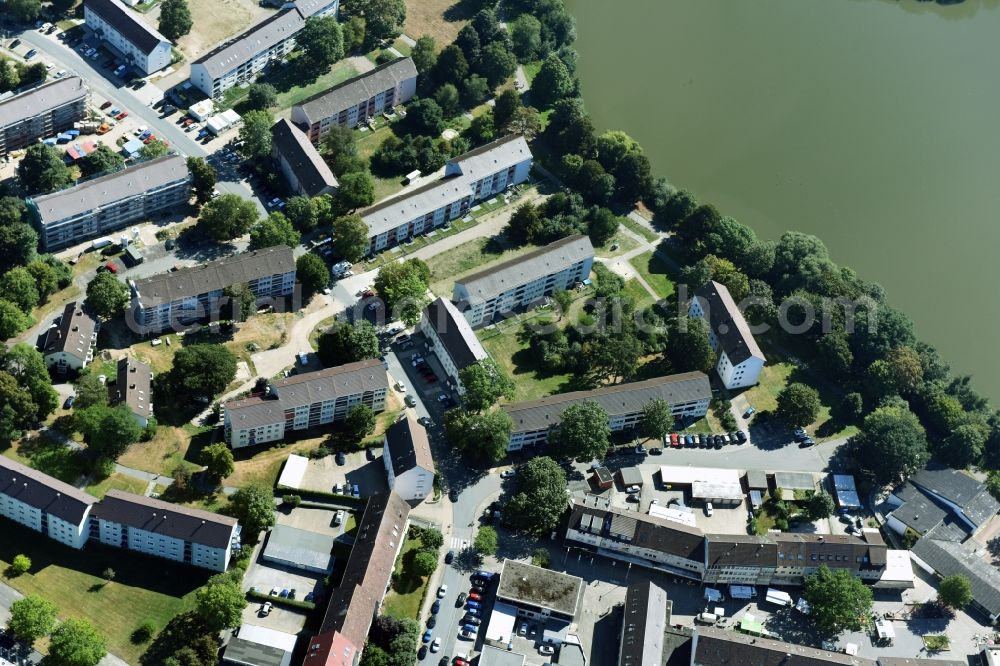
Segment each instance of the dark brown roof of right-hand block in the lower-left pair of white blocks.
[{"label": "dark brown roof of right-hand block in the lower-left pair of white blocks", "polygon": [[210,548],[228,548],[237,520],[229,516],[190,509],[121,490],[109,490],[94,515],[121,525],[198,543]]}]

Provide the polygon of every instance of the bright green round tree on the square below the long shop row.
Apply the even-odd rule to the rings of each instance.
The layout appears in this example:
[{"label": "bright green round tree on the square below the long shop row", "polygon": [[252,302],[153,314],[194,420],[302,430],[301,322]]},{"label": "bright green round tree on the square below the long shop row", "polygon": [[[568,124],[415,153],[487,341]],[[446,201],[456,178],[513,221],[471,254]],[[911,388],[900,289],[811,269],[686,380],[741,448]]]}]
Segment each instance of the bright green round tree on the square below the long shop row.
[{"label": "bright green round tree on the square below the long shop row", "polygon": [[812,609],[809,618],[831,633],[858,631],[872,614],[871,588],[848,569],[821,564],[806,578],[804,596]]}]

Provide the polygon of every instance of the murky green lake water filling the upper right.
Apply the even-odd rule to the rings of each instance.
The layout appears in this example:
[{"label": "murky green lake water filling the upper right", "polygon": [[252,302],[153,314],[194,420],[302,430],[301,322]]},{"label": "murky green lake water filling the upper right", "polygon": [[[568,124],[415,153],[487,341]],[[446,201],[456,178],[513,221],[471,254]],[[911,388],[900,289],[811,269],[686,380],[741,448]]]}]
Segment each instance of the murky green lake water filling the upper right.
[{"label": "murky green lake water filling the upper right", "polygon": [[1000,0],[567,4],[599,130],[763,237],[821,237],[1000,398]]}]

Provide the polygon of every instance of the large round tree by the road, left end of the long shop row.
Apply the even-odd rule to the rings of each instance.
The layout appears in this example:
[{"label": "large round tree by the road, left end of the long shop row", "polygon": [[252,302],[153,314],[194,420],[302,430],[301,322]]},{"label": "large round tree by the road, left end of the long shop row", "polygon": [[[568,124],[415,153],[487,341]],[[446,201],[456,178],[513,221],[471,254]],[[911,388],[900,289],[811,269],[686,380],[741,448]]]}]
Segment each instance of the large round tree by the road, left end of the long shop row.
[{"label": "large round tree by the road, left end of the long shop row", "polygon": [[551,532],[566,511],[566,472],[547,456],[518,469],[516,490],[504,507],[504,521],[529,535]]}]

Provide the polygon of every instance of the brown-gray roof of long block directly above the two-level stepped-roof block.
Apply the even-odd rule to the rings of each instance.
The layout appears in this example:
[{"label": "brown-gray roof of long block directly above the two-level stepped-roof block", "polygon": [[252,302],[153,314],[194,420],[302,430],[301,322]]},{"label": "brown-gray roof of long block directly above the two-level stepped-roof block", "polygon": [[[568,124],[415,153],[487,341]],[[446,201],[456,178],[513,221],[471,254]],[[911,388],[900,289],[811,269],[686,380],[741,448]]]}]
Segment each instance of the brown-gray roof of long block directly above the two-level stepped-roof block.
[{"label": "brown-gray roof of long block directly above the two-level stepped-roof block", "polygon": [[142,307],[148,308],[294,270],[292,248],[275,245],[136,280],[133,289],[138,293]]}]

